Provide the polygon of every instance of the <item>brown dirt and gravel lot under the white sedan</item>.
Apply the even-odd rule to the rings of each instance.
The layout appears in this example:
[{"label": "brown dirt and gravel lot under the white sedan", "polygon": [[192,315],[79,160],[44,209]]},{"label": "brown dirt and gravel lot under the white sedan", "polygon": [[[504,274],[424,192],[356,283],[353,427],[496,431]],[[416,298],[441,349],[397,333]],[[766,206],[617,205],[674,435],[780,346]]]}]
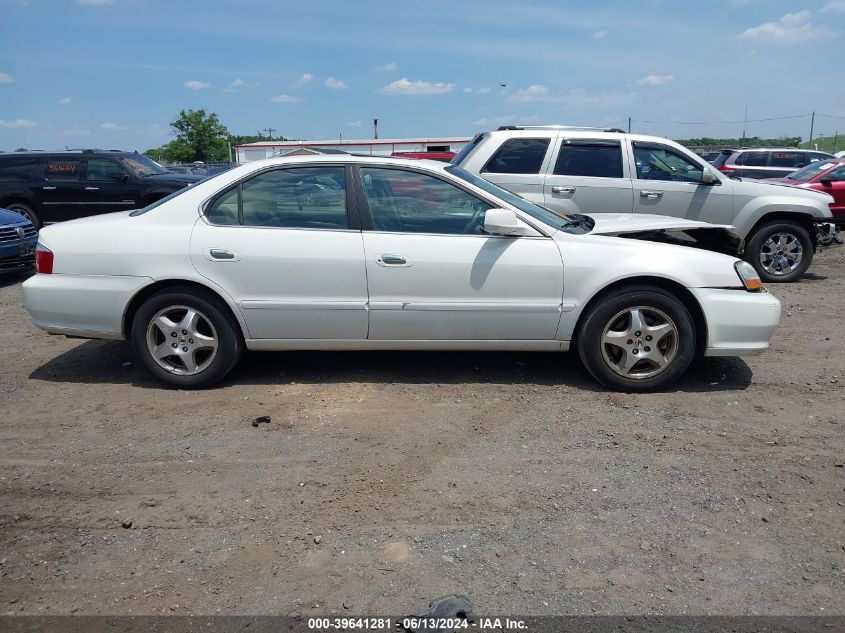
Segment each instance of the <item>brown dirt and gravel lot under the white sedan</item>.
[{"label": "brown dirt and gravel lot under the white sedan", "polygon": [[0,280],[0,613],[845,613],[845,249],[811,271],[769,352],[652,395],[503,353],[170,391]]}]

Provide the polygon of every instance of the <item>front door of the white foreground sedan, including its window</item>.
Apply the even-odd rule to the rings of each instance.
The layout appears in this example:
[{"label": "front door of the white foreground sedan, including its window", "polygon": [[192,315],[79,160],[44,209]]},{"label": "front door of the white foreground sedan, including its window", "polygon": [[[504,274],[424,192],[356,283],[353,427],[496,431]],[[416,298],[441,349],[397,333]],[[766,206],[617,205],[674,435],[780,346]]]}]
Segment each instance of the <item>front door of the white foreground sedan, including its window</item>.
[{"label": "front door of the white foreground sedan, including its window", "polygon": [[370,340],[554,340],[551,238],[484,234],[492,204],[445,176],[361,165],[360,183]]}]

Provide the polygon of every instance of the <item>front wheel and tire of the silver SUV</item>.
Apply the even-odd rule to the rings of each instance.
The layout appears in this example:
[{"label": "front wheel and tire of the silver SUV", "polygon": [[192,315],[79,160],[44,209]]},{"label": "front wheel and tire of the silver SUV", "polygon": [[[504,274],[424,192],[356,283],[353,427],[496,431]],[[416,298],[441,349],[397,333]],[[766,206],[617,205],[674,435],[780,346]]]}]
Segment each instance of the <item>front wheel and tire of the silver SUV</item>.
[{"label": "front wheel and tire of the silver SUV", "polygon": [[745,259],[764,282],[788,283],[799,279],[810,267],[813,241],[807,229],[797,222],[769,222],[749,238]]}]

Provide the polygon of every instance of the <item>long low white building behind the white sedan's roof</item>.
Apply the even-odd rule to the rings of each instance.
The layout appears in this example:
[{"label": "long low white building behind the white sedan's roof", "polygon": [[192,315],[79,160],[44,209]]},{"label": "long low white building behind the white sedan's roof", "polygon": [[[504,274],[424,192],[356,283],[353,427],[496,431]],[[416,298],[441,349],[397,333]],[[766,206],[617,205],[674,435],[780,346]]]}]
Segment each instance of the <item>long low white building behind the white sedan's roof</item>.
[{"label": "long low white building behind the white sedan's roof", "polygon": [[313,147],[372,156],[390,156],[400,152],[459,152],[469,143],[469,137],[397,138],[397,139],[338,139],[334,141],[260,141],[235,145],[235,160],[248,163],[262,158],[283,156],[293,150]]}]

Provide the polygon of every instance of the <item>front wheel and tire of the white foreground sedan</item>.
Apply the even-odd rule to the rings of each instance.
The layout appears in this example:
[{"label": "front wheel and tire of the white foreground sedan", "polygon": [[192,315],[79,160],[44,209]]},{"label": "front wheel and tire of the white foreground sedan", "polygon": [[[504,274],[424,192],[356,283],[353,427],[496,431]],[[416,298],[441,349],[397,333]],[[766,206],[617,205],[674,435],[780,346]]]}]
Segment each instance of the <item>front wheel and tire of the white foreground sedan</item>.
[{"label": "front wheel and tire of the white foreground sedan", "polygon": [[[634,314],[641,326],[633,321]],[[677,297],[660,288],[632,286],[596,301],[576,339],[581,362],[606,387],[656,391],[687,370],[695,355],[696,333]]]}]

